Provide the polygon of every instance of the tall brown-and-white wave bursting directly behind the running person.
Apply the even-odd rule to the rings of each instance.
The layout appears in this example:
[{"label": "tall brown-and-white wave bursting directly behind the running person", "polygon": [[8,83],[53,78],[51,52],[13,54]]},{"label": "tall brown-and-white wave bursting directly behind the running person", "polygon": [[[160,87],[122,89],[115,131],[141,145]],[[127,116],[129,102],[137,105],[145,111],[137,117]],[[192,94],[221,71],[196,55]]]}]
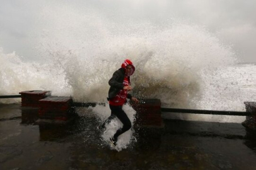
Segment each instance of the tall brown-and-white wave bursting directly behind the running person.
[{"label": "tall brown-and-white wave bursting directly behind the running person", "polygon": [[160,98],[163,105],[187,108],[194,106],[192,99],[200,94],[201,69],[234,62],[230,48],[223,47],[199,26],[175,25],[155,34],[147,39],[143,35],[126,35],[122,40],[110,36],[112,43],[99,42],[104,53],[93,58],[74,56],[67,50],[52,53],[59,55],[55,55],[59,60],[67,60],[62,69],[74,99],[105,101],[105,84],[122,61],[129,58],[136,65],[136,74],[131,77],[136,96]]}]

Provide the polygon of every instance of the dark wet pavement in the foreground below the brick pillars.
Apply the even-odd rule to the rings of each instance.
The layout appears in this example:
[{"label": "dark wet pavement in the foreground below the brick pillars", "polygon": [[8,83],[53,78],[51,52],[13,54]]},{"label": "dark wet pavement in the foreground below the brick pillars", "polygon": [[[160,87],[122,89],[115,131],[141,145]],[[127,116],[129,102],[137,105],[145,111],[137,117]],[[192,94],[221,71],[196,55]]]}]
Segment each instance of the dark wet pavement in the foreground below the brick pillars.
[{"label": "dark wet pavement in the foreground below the brick pillars", "polygon": [[134,127],[137,141],[117,152],[100,139],[94,116],[82,116],[67,125],[35,125],[37,118],[28,116],[28,110],[21,111],[20,105],[0,105],[0,169],[256,166],[255,134],[238,123],[165,120],[165,128]]}]

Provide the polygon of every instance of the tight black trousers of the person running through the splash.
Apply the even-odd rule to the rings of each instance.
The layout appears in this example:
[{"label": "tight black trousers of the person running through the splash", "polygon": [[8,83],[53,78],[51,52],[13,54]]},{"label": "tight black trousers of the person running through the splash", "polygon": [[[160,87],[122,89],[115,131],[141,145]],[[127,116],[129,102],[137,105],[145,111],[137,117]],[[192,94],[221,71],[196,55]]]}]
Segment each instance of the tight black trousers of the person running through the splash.
[{"label": "tight black trousers of the person running through the splash", "polygon": [[119,118],[119,120],[123,123],[123,127],[119,128],[119,130],[117,130],[115,135],[113,135],[113,138],[115,140],[117,140],[117,137],[119,137],[119,135],[126,132],[127,130],[129,130],[132,127],[132,123],[129,120],[126,113],[124,112],[124,110],[122,110],[122,106],[109,105],[109,107],[110,107],[110,110],[111,110],[111,115],[107,118],[107,120],[105,120],[102,127],[105,127],[105,125],[110,123],[111,120],[113,120],[113,118],[115,118],[115,116],[117,116],[117,118]]}]

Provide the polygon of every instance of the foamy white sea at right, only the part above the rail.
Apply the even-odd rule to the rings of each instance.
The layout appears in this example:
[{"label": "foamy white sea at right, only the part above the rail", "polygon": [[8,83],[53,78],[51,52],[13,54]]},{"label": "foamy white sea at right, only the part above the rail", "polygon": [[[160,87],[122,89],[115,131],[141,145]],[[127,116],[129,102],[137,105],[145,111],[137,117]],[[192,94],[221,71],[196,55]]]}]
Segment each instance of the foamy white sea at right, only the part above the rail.
[{"label": "foamy white sea at right, only the part above the rail", "polygon": [[[202,71],[202,95],[197,108],[245,111],[245,101],[256,101],[256,65],[238,64]],[[220,102],[222,101],[222,102]]]}]

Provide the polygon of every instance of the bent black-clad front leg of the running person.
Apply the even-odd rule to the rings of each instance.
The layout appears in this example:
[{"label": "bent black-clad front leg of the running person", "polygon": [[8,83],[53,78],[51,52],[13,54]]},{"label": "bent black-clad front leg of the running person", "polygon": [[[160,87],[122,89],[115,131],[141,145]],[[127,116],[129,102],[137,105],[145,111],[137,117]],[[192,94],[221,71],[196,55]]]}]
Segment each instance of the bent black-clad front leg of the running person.
[{"label": "bent black-clad front leg of the running person", "polygon": [[113,139],[116,142],[117,138],[120,135],[122,135],[122,133],[126,132],[127,130],[129,130],[132,127],[132,123],[129,120],[126,113],[124,112],[124,110],[122,110],[122,106],[110,106],[110,109],[113,111],[113,114],[115,116],[117,116],[117,118],[119,118],[119,120],[123,123],[123,127],[119,128],[119,130],[117,130],[115,135],[113,135]]}]

